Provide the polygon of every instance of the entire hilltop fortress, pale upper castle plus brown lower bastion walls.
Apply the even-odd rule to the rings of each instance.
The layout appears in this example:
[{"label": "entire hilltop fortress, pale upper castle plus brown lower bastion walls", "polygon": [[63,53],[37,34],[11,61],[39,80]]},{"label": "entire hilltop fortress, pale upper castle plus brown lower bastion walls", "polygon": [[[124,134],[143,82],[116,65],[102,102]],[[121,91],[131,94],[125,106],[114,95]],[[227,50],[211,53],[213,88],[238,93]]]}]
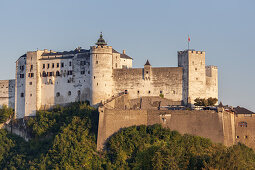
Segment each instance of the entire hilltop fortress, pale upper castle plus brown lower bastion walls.
[{"label": "entire hilltop fortress, pale upper castle plus brown lower bastion walls", "polygon": [[218,106],[189,110],[196,98],[218,99],[218,69],[205,65],[205,52],[178,52],[178,67],[132,68],[102,34],[90,50],[29,51],[16,61],[15,80],[0,81],[0,105],[15,118],[75,101],[98,106],[98,149],[119,129],[160,123],[180,133],[210,138],[227,146],[242,142],[255,149],[255,113]]}]

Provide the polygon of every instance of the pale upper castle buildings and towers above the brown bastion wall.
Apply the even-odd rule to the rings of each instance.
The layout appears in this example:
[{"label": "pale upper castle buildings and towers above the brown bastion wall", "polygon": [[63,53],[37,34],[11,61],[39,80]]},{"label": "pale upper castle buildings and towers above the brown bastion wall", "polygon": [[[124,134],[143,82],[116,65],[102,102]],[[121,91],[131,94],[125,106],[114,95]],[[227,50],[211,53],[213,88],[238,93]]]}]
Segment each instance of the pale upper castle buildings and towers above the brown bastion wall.
[{"label": "pale upper castle buildings and towers above the brown bastion wall", "polygon": [[205,65],[205,52],[178,52],[178,67],[132,68],[125,50],[108,46],[102,34],[90,50],[29,51],[16,61],[15,80],[0,81],[0,105],[15,108],[16,118],[36,110],[75,101],[98,105],[121,92],[130,98],[164,96],[175,104],[193,104],[196,98],[218,98],[218,69]]}]

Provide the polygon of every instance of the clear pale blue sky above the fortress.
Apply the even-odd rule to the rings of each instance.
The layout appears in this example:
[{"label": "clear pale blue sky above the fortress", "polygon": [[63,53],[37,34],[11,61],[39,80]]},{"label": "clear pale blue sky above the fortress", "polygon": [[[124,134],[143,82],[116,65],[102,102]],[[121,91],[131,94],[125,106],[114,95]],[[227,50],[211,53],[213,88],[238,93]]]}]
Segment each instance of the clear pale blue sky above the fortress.
[{"label": "clear pale blue sky above the fortress", "polygon": [[134,67],[177,66],[177,51],[218,66],[219,101],[255,111],[254,0],[1,0],[0,79],[27,51],[89,49],[100,32]]}]

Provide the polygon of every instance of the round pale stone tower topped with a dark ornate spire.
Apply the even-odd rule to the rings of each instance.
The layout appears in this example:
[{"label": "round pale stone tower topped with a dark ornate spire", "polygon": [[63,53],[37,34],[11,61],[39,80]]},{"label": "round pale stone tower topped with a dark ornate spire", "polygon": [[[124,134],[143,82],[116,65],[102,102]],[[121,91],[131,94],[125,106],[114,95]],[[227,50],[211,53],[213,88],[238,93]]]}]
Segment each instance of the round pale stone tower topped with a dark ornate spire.
[{"label": "round pale stone tower topped with a dark ornate spire", "polygon": [[112,47],[107,46],[101,33],[96,46],[90,47],[91,105],[112,96]]}]

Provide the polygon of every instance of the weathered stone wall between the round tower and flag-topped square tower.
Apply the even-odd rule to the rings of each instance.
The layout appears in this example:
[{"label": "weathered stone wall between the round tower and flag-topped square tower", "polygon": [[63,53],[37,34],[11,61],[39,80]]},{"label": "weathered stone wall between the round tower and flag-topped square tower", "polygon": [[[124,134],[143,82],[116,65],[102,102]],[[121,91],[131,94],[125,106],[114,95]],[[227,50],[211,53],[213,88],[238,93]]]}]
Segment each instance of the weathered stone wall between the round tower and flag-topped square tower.
[{"label": "weathered stone wall between the round tower and flag-topped square tower", "polygon": [[130,99],[142,96],[159,96],[173,101],[182,100],[182,68],[161,67],[114,69],[114,94],[125,90]]}]

